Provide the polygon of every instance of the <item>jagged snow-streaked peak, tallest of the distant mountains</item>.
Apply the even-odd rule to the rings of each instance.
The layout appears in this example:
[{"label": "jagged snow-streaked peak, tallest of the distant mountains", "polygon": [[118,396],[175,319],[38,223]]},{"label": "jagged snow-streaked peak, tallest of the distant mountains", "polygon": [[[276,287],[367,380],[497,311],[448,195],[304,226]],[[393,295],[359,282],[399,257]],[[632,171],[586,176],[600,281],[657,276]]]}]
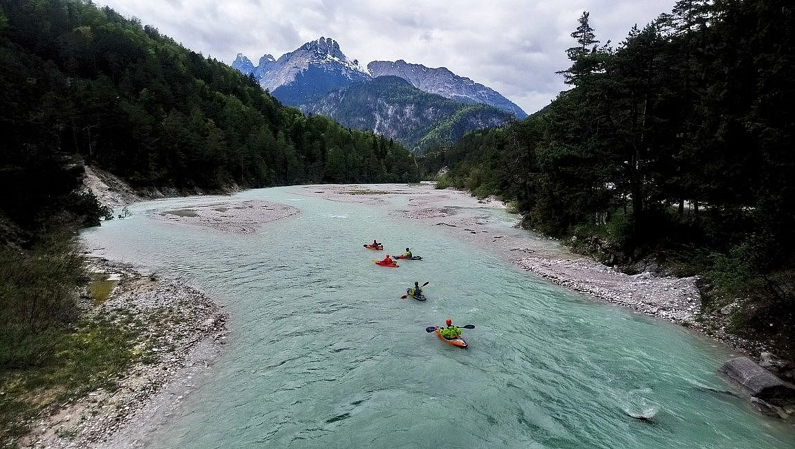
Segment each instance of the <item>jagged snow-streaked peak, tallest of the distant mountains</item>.
[{"label": "jagged snow-streaked peak, tallest of the distant mountains", "polygon": [[279,59],[266,54],[254,67],[238,54],[233,68],[245,75],[253,74],[262,88],[282,103],[297,106],[316,100],[326,92],[370,80],[359,61],[348,59],[333,39],[320,37]]}]

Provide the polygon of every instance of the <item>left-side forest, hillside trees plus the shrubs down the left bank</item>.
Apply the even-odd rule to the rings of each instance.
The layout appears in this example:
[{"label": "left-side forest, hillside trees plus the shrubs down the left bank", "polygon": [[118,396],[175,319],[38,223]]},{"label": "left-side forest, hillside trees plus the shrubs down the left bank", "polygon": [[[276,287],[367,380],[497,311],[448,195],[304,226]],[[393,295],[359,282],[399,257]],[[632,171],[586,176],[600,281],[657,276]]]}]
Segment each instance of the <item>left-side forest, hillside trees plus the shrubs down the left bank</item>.
[{"label": "left-side forest, hillside trees plus the shrubs down the left bank", "polygon": [[89,1],[0,1],[0,64],[0,368],[47,363],[78,315],[76,230],[112,217],[85,165],[182,193],[419,179],[393,140],[284,107]]}]

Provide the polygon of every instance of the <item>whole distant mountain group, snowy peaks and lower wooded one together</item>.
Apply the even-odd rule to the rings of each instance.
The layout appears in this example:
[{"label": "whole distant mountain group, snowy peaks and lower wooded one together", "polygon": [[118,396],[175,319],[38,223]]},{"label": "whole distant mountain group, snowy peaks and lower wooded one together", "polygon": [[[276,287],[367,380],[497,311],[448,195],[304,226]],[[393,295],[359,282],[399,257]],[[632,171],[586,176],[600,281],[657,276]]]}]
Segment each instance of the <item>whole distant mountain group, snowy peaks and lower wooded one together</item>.
[{"label": "whole distant mountain group, snowy peaks and lower wooded one together", "polygon": [[278,59],[266,54],[256,66],[238,53],[232,67],[253,75],[273,97],[305,114],[328,115],[344,126],[411,147],[452,143],[467,131],[527,117],[494,89],[447,68],[402,60],[374,61],[363,68],[326,37]]}]

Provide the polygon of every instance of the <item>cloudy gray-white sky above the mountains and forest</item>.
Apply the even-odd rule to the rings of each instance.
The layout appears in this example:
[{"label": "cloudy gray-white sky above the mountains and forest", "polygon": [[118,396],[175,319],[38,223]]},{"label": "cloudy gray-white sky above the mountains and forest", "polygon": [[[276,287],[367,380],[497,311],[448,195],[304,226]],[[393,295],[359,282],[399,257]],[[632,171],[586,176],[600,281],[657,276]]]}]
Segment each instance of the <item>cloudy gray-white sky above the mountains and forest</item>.
[{"label": "cloudy gray-white sky above the mountains and forest", "polygon": [[553,100],[565,49],[583,11],[615,44],[675,0],[95,0],[139,18],[205,56],[257,64],[332,37],[351,59],[447,67],[494,88],[528,113]]}]

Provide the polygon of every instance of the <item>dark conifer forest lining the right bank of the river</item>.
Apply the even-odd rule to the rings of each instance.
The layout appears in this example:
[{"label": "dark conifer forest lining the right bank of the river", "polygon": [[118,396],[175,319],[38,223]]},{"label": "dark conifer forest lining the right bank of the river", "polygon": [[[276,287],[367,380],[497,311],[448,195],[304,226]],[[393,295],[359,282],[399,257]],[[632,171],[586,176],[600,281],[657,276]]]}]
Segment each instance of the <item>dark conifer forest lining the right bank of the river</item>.
[{"label": "dark conifer forest lining the right bank of the river", "polygon": [[704,312],[733,310],[735,333],[791,350],[793,11],[681,0],[618,45],[584,13],[559,72],[568,90],[429,151],[425,170],[513,201],[525,227],[611,266],[701,275]]}]

